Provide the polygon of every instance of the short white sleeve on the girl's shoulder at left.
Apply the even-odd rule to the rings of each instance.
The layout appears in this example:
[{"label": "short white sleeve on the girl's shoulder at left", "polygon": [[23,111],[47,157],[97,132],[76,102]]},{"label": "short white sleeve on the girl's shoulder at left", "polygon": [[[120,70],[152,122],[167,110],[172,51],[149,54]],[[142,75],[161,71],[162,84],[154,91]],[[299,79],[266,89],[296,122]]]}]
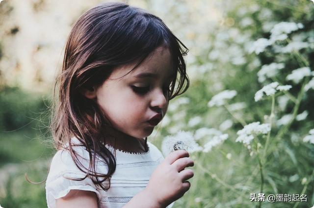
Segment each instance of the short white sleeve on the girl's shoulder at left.
[{"label": "short white sleeve on the girl's shoulder at left", "polygon": [[[84,158],[89,157],[86,157],[86,153],[81,150],[78,152],[78,159],[84,167],[88,168],[89,161]],[[70,190],[73,189],[95,192],[99,203],[101,194],[93,183],[91,177],[87,177],[82,181],[64,178],[84,178],[84,176],[85,173],[78,169],[70,153],[67,150],[59,150],[52,158],[50,172],[46,181],[46,199],[48,208],[55,208],[56,199],[66,196]]]}]

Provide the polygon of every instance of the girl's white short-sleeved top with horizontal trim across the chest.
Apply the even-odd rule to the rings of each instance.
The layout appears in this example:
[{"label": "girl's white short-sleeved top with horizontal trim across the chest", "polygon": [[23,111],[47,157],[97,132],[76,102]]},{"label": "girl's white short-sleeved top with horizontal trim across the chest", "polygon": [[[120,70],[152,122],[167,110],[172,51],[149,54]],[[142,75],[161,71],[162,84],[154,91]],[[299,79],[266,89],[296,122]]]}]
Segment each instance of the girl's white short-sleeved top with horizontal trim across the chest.
[{"label": "girl's white short-sleeved top with horizontal trim across the chest", "polygon": [[[73,138],[73,143],[79,143]],[[50,171],[46,181],[46,199],[48,208],[55,208],[55,200],[64,197],[72,189],[93,191],[96,193],[99,208],[122,208],[133,196],[142,191],[151,174],[164,157],[155,145],[147,141],[149,150],[146,153],[126,153],[116,150],[116,170],[110,180],[110,188],[104,191],[95,185],[91,177],[83,181],[74,181],[64,178],[83,178],[85,173],[75,165],[67,150],[59,150],[52,158]],[[111,146],[106,147],[113,153]],[[83,146],[74,146],[79,155],[79,161],[84,167],[89,166],[89,154]],[[96,163],[97,173],[107,173],[106,164],[100,159]],[[108,182],[103,182],[107,187]],[[171,208],[174,202],[167,208]]]}]

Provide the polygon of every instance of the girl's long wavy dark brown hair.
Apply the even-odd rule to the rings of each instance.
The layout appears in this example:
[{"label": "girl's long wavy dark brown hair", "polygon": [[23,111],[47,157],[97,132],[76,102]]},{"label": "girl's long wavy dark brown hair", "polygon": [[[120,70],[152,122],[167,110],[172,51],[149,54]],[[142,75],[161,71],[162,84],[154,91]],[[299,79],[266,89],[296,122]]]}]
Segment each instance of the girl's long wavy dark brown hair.
[{"label": "girl's long wavy dark brown hair", "polygon": [[[71,180],[82,181],[90,176],[95,184],[108,190],[116,169],[115,156],[105,147],[110,135],[104,127],[111,124],[97,102],[86,98],[82,90],[102,85],[118,66],[135,62],[136,68],[159,46],[169,48],[174,63],[176,73],[169,86],[171,100],[189,86],[183,59],[188,49],[160,18],[138,7],[111,2],[88,10],[73,26],[62,71],[54,85],[51,122],[53,146],[57,150],[67,149],[77,167],[86,173],[83,178]],[[78,159],[73,137],[89,153],[88,168]],[[97,173],[96,158],[104,160],[107,174]],[[108,187],[102,184],[105,180],[109,181]]]}]

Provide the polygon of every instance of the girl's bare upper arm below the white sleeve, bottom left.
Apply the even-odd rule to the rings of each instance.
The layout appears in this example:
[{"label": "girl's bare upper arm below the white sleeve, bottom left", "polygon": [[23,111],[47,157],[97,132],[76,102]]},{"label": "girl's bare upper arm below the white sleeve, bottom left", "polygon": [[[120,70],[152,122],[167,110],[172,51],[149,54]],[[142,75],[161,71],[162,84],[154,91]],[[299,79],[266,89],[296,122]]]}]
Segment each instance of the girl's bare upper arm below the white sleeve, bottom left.
[{"label": "girl's bare upper arm below the white sleeve, bottom left", "polygon": [[98,208],[97,195],[93,191],[71,190],[56,200],[56,208]]}]

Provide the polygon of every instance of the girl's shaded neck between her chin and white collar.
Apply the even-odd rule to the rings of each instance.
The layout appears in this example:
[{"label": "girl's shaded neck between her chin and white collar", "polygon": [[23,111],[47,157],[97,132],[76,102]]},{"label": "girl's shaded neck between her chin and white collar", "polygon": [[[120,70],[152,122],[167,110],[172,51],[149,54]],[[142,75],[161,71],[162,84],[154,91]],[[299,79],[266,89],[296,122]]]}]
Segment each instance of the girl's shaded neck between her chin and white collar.
[{"label": "girl's shaded neck between her chin and white collar", "polygon": [[105,126],[105,143],[115,149],[130,153],[145,153],[145,139],[135,138],[110,126]]}]

